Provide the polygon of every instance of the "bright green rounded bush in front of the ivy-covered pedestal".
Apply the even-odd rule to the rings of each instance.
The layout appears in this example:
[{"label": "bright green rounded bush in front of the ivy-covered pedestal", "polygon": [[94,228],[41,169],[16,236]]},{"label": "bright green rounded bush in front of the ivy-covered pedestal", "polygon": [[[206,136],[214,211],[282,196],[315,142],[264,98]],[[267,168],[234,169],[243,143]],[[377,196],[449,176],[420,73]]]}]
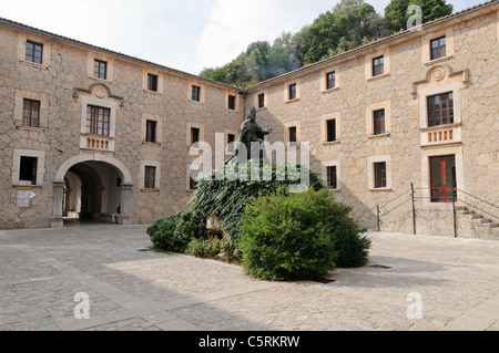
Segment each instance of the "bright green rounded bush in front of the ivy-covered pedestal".
[{"label": "bright green rounded bush in front of the ivy-covered pedestal", "polygon": [[242,222],[243,266],[265,280],[312,279],[334,268],[327,190],[256,198]]}]

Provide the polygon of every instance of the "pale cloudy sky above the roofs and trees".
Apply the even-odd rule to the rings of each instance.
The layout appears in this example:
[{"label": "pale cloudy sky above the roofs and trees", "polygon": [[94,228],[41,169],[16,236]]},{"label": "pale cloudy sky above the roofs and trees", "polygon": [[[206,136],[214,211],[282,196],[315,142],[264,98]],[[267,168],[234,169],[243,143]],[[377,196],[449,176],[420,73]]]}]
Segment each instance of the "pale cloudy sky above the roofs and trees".
[{"label": "pale cloudy sky above the roofs and trees", "polygon": [[[486,0],[447,0],[455,11]],[[339,0],[0,0],[0,18],[198,74],[298,32]],[[366,0],[384,14],[389,0]]]}]

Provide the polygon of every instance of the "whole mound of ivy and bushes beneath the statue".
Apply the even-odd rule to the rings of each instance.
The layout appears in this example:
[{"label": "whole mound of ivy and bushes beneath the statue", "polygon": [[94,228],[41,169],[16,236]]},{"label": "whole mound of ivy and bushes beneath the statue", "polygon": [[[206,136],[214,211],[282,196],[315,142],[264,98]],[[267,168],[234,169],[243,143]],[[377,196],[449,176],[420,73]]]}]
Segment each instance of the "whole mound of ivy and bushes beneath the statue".
[{"label": "whole mound of ivy and bushes beneath the statue", "polygon": [[[226,167],[198,181],[189,209],[160,219],[147,229],[155,248],[202,258],[243,261],[254,276],[269,280],[313,278],[338,267],[361,267],[370,241],[352,218],[352,208],[333,199],[324,181],[309,168],[294,165],[259,167],[251,180],[251,165]],[[247,180],[234,174],[247,172]],[[308,175],[308,191],[293,194]],[[268,178],[268,176],[271,176]],[[215,216],[225,235],[210,235],[206,219]]]}]

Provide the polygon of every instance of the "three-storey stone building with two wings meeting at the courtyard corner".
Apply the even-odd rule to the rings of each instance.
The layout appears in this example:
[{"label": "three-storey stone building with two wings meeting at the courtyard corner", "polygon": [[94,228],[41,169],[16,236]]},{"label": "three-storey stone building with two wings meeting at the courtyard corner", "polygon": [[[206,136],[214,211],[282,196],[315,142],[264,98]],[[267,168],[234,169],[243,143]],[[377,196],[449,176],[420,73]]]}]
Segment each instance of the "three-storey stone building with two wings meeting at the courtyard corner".
[{"label": "three-storey stone building with two wings meeting at the courtyard corner", "polygon": [[0,19],[0,228],[171,215],[192,143],[255,106],[360,224],[497,237],[498,22],[489,1],[240,90]]}]

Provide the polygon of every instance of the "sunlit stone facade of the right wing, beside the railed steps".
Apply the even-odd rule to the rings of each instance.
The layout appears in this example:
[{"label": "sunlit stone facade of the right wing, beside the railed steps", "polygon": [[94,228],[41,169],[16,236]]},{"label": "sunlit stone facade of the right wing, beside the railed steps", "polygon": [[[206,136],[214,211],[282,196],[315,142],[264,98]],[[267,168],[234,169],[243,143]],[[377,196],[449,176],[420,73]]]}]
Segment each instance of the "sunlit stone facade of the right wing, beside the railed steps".
[{"label": "sunlit stone facade of the right wing, beside the railed steps", "polygon": [[[271,143],[286,141],[295,126],[298,141],[310,143],[313,169],[326,180],[327,167],[336,166],[335,195],[363,225],[377,229],[377,206],[389,203],[380,208],[381,229],[413,232],[414,184],[416,231],[452,236],[451,201],[430,198],[431,157],[454,156],[459,199],[499,216],[489,205],[499,206],[498,9],[492,2],[269,80],[252,87],[246,101],[256,104],[265,94],[258,121],[274,128]],[[430,60],[430,41],[441,37],[446,55]],[[384,73],[373,76],[373,59],[381,55]],[[327,90],[330,72],[335,86]],[[289,101],[292,84],[298,93]],[[454,93],[454,123],[429,127],[427,97],[447,92]],[[385,129],[375,134],[378,110]],[[335,120],[334,142],[326,139],[328,120]],[[374,164],[380,162],[386,185],[376,188]],[[461,236],[473,236],[460,228]]]}]

